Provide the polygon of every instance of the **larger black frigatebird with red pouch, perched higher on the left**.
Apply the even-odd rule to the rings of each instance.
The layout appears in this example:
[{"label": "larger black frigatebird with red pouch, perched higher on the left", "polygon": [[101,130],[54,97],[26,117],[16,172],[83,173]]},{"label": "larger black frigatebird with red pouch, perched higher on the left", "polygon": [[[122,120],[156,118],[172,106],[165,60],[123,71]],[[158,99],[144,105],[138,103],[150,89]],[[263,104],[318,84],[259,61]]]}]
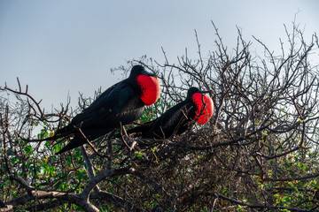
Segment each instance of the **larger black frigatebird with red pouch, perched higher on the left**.
[{"label": "larger black frigatebird with red pouch, perched higher on the left", "polygon": [[142,65],[133,66],[128,79],[106,89],[69,125],[55,133],[57,138],[74,137],[57,154],[82,146],[87,140],[95,140],[121,125],[130,124],[142,116],[144,105],[158,100],[159,92],[156,74],[146,72]]}]

